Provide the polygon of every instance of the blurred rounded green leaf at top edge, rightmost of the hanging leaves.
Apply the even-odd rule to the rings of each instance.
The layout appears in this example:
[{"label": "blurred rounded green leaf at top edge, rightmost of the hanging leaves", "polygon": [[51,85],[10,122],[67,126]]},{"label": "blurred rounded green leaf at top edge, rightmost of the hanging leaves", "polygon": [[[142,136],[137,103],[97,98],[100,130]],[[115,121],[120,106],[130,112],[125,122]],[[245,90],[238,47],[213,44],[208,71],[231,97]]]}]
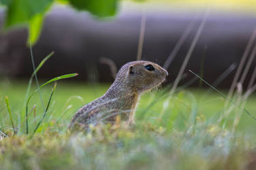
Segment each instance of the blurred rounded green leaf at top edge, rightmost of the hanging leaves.
[{"label": "blurred rounded green leaf at top edge, rightmost of the hanging leaves", "polygon": [[114,16],[118,0],[69,0],[77,10],[87,10],[99,17]]}]

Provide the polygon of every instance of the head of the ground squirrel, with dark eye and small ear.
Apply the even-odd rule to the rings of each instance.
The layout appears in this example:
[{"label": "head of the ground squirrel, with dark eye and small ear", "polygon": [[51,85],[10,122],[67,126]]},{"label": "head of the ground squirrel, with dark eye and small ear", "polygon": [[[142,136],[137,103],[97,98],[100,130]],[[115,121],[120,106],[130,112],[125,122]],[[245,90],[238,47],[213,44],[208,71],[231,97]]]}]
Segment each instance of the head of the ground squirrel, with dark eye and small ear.
[{"label": "head of the ground squirrel, with dark eye and small ear", "polygon": [[126,63],[117,73],[117,82],[139,93],[151,90],[165,81],[168,72],[150,61]]}]

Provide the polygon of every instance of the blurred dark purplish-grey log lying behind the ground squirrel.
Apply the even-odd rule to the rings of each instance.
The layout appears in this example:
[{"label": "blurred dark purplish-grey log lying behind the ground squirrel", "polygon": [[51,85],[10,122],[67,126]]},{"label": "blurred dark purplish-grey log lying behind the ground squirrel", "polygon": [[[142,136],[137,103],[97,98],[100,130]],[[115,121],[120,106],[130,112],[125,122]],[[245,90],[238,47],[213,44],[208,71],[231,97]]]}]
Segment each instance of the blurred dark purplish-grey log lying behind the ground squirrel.
[{"label": "blurred dark purplish-grey log lying behind the ground squirrel", "polygon": [[[196,27],[193,28],[168,69],[169,82],[177,75],[201,22],[200,15],[196,16],[198,14],[193,12],[146,13],[142,58],[160,65],[164,64],[190,21],[196,18]],[[118,68],[128,61],[136,60],[140,22],[141,12],[134,12],[132,7],[122,8],[119,14],[110,20],[97,20],[86,12],[76,12],[70,7],[53,7],[46,17],[40,39],[33,47],[36,64],[44,56],[55,51],[54,56],[38,73],[39,76],[46,78],[76,72],[79,73],[76,79],[88,80],[87,75],[94,73],[95,81],[113,81],[109,67],[100,65],[99,59],[110,58],[115,61]],[[1,12],[1,25],[3,25],[3,12]],[[210,14],[186,70],[191,69],[199,73],[203,68],[205,80],[213,82],[232,63],[240,62],[248,39],[255,28],[256,16]],[[1,35],[0,71],[4,68],[5,73],[16,77],[31,75],[33,70],[29,49],[25,46],[26,37],[25,29]],[[255,67],[255,61],[253,62]],[[187,80],[190,78],[188,76]],[[230,75],[222,85],[229,86],[232,78],[233,75]]]}]

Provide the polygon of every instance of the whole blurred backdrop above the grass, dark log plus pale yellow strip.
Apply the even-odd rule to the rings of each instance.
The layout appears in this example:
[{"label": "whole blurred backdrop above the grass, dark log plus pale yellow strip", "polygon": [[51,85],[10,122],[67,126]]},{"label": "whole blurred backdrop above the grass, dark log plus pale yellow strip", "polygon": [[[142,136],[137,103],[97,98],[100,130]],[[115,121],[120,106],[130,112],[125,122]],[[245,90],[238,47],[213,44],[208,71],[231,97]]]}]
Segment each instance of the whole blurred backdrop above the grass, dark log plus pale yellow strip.
[{"label": "whole blurred backdrop above the grass, dark log plus pale yellow strip", "polygon": [[[2,28],[4,16],[5,9],[1,8]],[[40,37],[32,47],[35,65],[55,52],[38,77],[53,78],[76,72],[79,76],[72,80],[113,82],[111,68],[100,62],[100,58],[109,58],[119,69],[137,59],[141,38],[141,58],[165,65],[169,71],[167,82],[173,82],[202,22],[182,81],[193,79],[188,69],[210,83],[224,73],[220,86],[229,88],[256,28],[253,1],[119,1],[117,14],[106,18],[75,10],[70,5],[55,4],[46,14]],[[2,78],[29,78],[33,72],[27,36],[23,27],[8,32],[2,29]],[[256,65],[254,46],[253,42],[247,54],[246,62],[250,64],[245,84],[251,80]]]}]

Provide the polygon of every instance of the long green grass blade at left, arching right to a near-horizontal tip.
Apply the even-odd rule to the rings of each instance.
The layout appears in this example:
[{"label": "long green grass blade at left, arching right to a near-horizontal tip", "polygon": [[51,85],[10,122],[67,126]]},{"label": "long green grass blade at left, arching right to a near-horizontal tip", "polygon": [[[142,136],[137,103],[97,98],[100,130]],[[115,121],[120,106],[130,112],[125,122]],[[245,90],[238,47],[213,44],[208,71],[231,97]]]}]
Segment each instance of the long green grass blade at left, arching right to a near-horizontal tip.
[{"label": "long green grass blade at left, arching right to a near-horizontal tip", "polygon": [[27,112],[28,112],[28,105],[29,105],[29,101],[31,99],[31,97],[33,97],[33,95],[35,95],[35,92],[38,92],[38,90],[44,86],[46,86],[47,84],[50,84],[51,82],[56,82],[58,80],[61,80],[61,79],[66,79],[66,78],[72,78],[76,75],[79,75],[78,73],[70,73],[70,74],[66,74],[66,75],[61,75],[57,78],[53,78],[51,80],[49,80],[48,82],[42,84],[38,89],[36,89],[35,91],[32,92],[31,95],[29,95],[28,99],[27,99],[27,104],[26,104],[26,134],[28,135],[29,134],[29,122],[28,122],[28,117],[27,117]]}]

